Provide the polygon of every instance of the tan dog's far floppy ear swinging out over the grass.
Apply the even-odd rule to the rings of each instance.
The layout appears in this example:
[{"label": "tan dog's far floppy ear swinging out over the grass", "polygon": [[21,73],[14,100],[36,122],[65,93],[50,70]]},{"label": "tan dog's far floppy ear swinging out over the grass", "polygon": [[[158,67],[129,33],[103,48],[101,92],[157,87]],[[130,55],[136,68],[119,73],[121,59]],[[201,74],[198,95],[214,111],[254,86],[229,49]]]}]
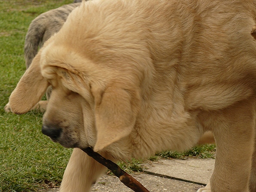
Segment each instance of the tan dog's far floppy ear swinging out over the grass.
[{"label": "tan dog's far floppy ear swinging out over the grass", "polygon": [[10,96],[9,103],[13,113],[28,112],[42,98],[49,86],[41,74],[40,55],[41,51],[37,53]]}]

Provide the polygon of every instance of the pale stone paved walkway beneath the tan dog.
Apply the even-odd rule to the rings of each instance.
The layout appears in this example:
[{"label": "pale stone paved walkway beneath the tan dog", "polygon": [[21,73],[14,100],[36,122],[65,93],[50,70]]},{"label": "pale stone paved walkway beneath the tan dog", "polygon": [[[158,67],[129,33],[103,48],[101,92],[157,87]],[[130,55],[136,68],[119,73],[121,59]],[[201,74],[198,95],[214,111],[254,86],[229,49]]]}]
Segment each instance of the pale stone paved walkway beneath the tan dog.
[{"label": "pale stone paved walkway beneath the tan dog", "polygon": [[[196,192],[207,184],[214,159],[162,159],[144,163],[145,173],[132,174],[150,192]],[[58,192],[50,189],[48,192]],[[91,192],[133,192],[115,176],[104,175]]]}]

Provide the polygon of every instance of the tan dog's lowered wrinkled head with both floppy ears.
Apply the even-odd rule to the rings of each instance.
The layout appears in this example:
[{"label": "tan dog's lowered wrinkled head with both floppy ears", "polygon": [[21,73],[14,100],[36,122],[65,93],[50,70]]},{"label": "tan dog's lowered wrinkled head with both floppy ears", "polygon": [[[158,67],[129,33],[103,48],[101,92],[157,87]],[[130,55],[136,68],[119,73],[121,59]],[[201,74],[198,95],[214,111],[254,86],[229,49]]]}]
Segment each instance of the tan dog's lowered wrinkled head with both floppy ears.
[{"label": "tan dog's lowered wrinkled head with both floppy ears", "polygon": [[62,37],[52,36],[38,52],[10,96],[12,111],[26,113],[51,85],[42,132],[53,141],[99,151],[129,137],[140,101],[129,72],[90,60]]}]

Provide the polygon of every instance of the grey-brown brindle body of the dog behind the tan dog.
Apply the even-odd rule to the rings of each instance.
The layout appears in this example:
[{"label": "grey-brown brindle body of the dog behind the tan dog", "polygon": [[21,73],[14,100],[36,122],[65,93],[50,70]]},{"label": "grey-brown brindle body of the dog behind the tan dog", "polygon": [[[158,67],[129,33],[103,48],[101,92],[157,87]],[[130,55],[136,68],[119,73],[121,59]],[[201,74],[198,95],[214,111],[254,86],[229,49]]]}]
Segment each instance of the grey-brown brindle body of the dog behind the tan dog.
[{"label": "grey-brown brindle body of the dog behind the tan dog", "polygon": [[38,48],[40,48],[50,36],[61,29],[69,13],[78,5],[80,5],[80,3],[63,5],[57,9],[40,14],[31,22],[24,43],[26,69],[37,55]]}]

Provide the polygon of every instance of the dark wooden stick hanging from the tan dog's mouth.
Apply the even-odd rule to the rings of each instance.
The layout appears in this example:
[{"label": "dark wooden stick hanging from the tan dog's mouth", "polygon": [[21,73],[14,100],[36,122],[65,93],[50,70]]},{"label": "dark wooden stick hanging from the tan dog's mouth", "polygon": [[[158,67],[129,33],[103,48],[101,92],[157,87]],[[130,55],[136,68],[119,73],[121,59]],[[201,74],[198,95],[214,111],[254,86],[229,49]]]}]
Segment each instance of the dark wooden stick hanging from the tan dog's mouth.
[{"label": "dark wooden stick hanging from the tan dog's mouth", "polygon": [[91,147],[87,147],[82,149],[88,156],[91,156],[100,164],[109,168],[115,176],[117,176],[121,182],[132,189],[134,192],[149,192],[139,181],[135,180],[131,175],[122,170],[117,164],[114,162],[104,158],[98,153],[94,152]]}]

